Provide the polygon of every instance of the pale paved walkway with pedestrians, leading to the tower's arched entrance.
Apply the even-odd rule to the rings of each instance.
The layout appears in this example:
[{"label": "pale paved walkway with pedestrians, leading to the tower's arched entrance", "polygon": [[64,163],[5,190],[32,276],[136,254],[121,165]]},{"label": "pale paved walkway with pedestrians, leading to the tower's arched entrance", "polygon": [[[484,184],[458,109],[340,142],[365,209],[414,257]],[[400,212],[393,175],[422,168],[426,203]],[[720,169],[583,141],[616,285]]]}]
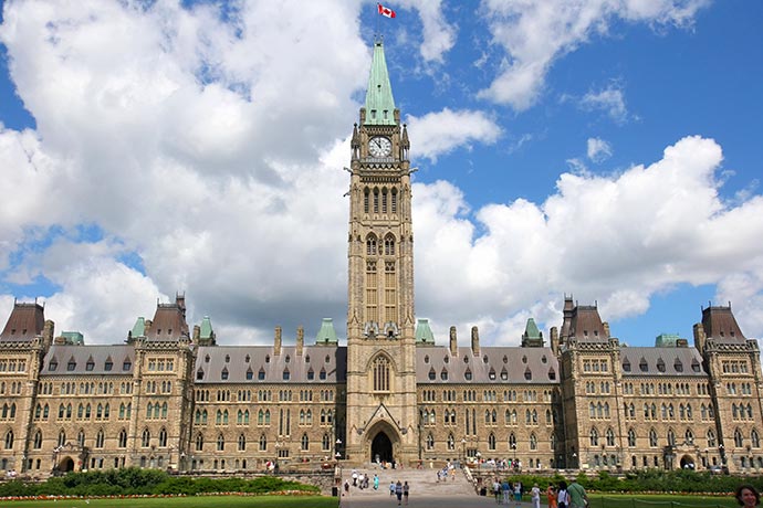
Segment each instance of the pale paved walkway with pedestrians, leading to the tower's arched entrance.
[{"label": "pale paved walkway with pedestrians, leading to the tower's arched entrance", "polygon": [[[367,489],[353,487],[353,469],[343,469],[343,484],[344,479],[348,479],[351,486],[349,494],[342,496],[339,502],[342,508],[396,507],[397,497],[389,495],[389,483],[397,480],[408,481],[410,486],[408,506],[417,508],[530,507],[529,502],[516,505],[514,501],[509,505],[497,505],[492,496],[478,496],[461,469],[456,470],[454,479],[448,478],[439,483],[437,472],[432,469],[378,469],[375,466],[368,466],[357,468],[357,472],[370,476],[370,487]],[[378,490],[374,490],[374,474],[379,476]]]}]

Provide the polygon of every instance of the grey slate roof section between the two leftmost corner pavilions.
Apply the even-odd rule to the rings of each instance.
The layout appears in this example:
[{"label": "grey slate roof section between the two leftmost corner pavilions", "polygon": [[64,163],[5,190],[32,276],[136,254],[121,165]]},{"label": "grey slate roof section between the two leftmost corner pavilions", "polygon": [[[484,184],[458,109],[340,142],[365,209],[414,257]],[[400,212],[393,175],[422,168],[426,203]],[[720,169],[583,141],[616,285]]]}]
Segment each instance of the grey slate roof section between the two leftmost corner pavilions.
[{"label": "grey slate roof section between the two leftmost corner pavilions", "polygon": [[[51,370],[51,362],[58,364]],[[112,370],[106,370],[106,361],[113,363]],[[129,369],[124,370],[125,360],[129,361]],[[69,370],[70,362],[73,370]],[[87,364],[92,363],[92,370]],[[133,346],[52,346],[42,362],[43,375],[133,375],[135,369],[135,349]]]}]

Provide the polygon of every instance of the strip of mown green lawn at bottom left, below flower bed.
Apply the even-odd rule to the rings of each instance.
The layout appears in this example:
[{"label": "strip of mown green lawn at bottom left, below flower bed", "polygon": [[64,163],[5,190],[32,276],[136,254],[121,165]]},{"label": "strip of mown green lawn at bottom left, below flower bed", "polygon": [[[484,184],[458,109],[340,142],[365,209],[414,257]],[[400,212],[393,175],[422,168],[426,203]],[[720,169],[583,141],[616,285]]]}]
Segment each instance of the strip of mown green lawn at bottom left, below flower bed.
[{"label": "strip of mown green lawn at bottom left, below flower bed", "polygon": [[3,501],[9,508],[184,508],[184,507],[274,507],[274,508],[336,508],[338,500],[325,496],[188,496],[130,499],[59,499],[58,501]]}]

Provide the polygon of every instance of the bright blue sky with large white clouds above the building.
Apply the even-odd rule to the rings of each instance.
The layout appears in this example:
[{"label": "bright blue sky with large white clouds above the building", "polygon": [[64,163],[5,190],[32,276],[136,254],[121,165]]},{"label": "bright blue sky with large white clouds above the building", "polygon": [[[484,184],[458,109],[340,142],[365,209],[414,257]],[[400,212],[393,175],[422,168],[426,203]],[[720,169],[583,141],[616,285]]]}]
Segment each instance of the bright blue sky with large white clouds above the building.
[{"label": "bright blue sky with large white clouds above the building", "polygon": [[[222,343],[346,314],[347,136],[384,35],[416,301],[513,345],[564,294],[631,345],[763,334],[763,7],[6,2],[0,303],[118,342],[186,292]],[[7,188],[7,189],[8,189]]]}]

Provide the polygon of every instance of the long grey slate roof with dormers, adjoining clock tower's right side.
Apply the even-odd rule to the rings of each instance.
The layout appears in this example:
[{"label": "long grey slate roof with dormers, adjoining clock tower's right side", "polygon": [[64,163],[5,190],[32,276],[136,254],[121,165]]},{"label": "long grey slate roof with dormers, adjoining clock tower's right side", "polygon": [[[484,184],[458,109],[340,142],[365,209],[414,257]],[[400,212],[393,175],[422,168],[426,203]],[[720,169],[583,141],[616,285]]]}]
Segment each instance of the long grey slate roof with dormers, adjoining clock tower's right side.
[{"label": "long grey slate roof with dormers, adjoining clock tower's right side", "polygon": [[[468,361],[464,361],[464,358]],[[432,369],[435,379],[430,380],[429,372]],[[447,381],[443,381],[440,375],[443,369],[448,371]],[[466,378],[467,370],[471,372],[471,381]],[[493,379],[491,379],[491,371],[494,373]],[[530,379],[525,377],[527,372]],[[554,379],[551,379],[550,372],[554,373]],[[551,348],[481,348],[479,357],[472,354],[471,348],[468,347],[458,348],[458,357],[451,356],[450,349],[442,346],[416,348],[416,381],[418,383],[558,384],[558,361]]]}]

